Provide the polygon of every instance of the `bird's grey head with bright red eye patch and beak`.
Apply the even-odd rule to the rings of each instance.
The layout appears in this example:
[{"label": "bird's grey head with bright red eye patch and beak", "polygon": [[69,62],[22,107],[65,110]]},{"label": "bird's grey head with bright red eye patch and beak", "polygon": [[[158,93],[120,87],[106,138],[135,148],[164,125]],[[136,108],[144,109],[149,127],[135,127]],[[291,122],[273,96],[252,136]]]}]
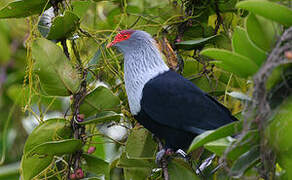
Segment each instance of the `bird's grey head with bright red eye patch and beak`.
[{"label": "bird's grey head with bright red eye patch and beak", "polygon": [[122,53],[131,52],[137,48],[143,47],[146,44],[153,43],[150,34],[139,30],[122,30],[106,47],[117,47]]}]

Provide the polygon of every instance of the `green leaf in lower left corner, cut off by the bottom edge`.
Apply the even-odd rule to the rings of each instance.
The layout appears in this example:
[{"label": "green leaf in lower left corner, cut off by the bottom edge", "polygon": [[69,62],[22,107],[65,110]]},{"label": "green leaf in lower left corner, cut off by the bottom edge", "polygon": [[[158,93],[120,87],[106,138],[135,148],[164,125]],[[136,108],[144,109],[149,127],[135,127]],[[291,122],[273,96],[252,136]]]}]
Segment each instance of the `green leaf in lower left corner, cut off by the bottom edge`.
[{"label": "green leaf in lower left corner, cut off by the bottom edge", "polygon": [[41,174],[53,162],[53,156],[22,156],[21,177],[23,180],[31,180]]}]

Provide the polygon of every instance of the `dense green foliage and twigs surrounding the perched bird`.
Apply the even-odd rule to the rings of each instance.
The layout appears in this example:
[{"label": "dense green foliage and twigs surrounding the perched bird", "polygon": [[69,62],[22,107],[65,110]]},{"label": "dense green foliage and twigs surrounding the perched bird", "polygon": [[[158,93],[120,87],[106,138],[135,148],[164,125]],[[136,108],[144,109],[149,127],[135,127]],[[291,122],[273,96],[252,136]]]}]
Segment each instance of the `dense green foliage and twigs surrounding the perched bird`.
[{"label": "dense green foliage and twigs surrounding the perched bird", "polygon": [[151,33],[172,69],[239,119],[169,160],[170,179],[291,179],[291,5],[0,1],[0,179],[164,178],[129,112],[122,56],[105,47],[122,29]]}]

